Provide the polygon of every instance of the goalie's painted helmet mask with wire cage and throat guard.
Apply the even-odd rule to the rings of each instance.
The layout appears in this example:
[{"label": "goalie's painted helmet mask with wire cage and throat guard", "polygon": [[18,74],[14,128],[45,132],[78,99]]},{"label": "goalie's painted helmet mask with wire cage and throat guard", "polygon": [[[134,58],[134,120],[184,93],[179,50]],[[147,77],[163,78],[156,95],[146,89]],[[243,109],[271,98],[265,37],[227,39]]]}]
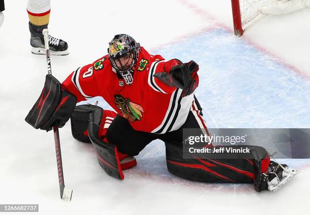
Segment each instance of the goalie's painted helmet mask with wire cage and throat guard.
[{"label": "goalie's painted helmet mask with wire cage and throat guard", "polygon": [[140,51],[140,44],[127,34],[115,35],[109,43],[108,56],[111,65],[124,78],[126,84],[133,83],[133,70]]}]

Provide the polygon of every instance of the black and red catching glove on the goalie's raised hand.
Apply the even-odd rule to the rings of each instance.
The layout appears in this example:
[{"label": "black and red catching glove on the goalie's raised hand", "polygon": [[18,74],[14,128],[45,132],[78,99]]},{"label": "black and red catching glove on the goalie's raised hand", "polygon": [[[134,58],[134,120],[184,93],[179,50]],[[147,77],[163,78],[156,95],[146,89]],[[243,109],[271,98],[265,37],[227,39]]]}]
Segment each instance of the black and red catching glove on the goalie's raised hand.
[{"label": "black and red catching glove on the goalie's raised hand", "polygon": [[177,59],[174,59],[174,61],[177,62],[177,65],[174,65],[168,71],[165,69],[165,72],[156,73],[153,76],[170,87],[182,89],[182,97],[192,94],[199,84],[197,75],[199,70],[198,64],[192,60],[188,63],[182,63]]}]

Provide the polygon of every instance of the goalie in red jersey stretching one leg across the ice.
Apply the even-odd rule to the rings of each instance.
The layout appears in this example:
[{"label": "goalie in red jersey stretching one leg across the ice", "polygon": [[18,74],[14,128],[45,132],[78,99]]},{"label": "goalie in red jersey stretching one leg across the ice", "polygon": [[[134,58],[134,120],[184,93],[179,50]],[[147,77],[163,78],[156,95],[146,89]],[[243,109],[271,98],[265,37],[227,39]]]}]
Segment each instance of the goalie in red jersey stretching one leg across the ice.
[{"label": "goalie in red jersey stretching one leg across the ice", "polygon": [[[169,172],[188,180],[253,183],[260,192],[279,189],[297,173],[270,161],[259,146],[247,146],[251,159],[242,154],[236,159],[183,158],[183,129],[196,128],[200,134],[210,135],[193,93],[199,85],[198,64],[151,55],[127,34],[115,35],[107,52],[74,70],[61,84],[59,99],[50,98],[51,85],[45,85],[45,93],[28,115],[49,113],[44,119],[35,118],[39,119],[36,128],[62,127],[71,117],[73,137],[92,143],[104,171],[120,180],[123,170],[137,164],[134,156],[154,139],[165,142]],[[102,96],[114,111],[91,104],[75,106],[76,101],[95,96]],[[46,108],[40,108],[42,105]],[[63,106],[69,108],[60,113]]]}]

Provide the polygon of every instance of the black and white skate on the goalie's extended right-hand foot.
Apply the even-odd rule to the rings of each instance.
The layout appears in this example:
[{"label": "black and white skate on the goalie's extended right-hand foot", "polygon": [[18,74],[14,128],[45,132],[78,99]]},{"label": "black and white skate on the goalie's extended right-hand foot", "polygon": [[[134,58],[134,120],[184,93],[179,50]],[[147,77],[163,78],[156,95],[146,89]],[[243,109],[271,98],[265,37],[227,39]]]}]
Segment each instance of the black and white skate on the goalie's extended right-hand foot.
[{"label": "black and white skate on the goalie's extended right-hand foot", "polygon": [[297,173],[297,170],[289,168],[286,164],[270,161],[267,172],[263,173],[264,180],[267,181],[266,190],[277,191]]}]

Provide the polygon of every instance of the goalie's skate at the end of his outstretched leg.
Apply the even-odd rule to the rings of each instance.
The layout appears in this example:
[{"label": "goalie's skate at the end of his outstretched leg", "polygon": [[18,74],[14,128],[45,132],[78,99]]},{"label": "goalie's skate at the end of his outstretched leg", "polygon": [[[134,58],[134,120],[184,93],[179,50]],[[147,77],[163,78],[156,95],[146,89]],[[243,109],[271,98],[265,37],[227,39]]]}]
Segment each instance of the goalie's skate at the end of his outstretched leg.
[{"label": "goalie's skate at the end of his outstretched leg", "polygon": [[[277,169],[280,168],[280,171]],[[268,172],[268,178],[271,176],[274,178],[267,181],[268,190],[275,192],[281,188],[285,183],[290,181],[298,173],[297,170],[289,168],[287,165],[280,165],[275,169],[275,171]]]}]

